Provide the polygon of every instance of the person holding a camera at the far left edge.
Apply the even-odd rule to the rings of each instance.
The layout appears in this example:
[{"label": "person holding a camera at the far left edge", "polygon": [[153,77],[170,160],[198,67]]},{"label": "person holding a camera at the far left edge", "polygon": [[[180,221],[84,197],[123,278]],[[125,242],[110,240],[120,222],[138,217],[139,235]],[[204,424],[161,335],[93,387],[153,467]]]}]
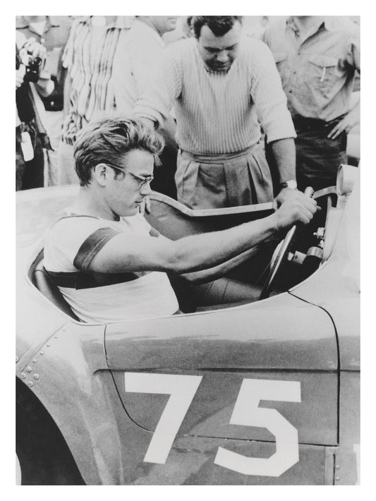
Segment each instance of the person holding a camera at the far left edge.
[{"label": "person holding a camera at the far left edge", "polygon": [[49,138],[43,126],[39,93],[49,95],[54,83],[43,72],[45,49],[16,32],[16,190],[44,186],[43,147]]}]

